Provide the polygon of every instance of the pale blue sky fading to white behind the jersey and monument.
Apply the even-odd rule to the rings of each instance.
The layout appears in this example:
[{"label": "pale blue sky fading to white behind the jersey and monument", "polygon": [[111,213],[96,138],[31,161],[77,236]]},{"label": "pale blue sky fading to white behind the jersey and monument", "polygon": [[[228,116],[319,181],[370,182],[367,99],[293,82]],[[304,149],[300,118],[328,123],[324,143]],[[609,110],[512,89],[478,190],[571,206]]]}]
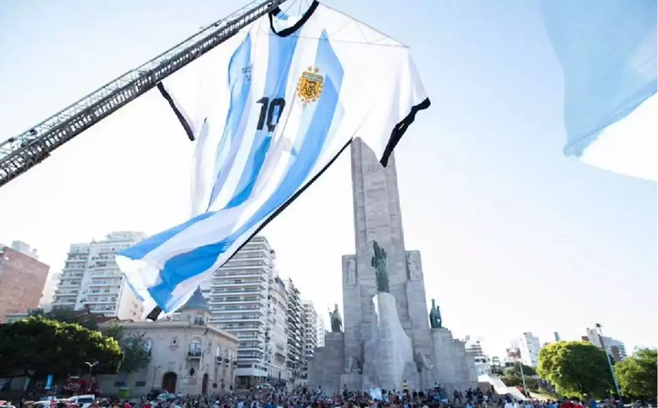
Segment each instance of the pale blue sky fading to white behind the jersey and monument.
[{"label": "pale blue sky fading to white behind the jersey and monument", "polygon": [[[0,137],[241,3],[0,2]],[[658,185],[563,156],[562,79],[537,3],[326,3],[407,43],[432,99],[396,154],[405,240],[422,253],[445,325],[484,336],[495,355],[522,331],[544,342],[597,322],[628,346],[658,346]],[[71,242],[182,221],[191,146],[151,101],[0,189],[0,242],[24,240],[59,270]],[[342,300],[351,206],[345,156],[264,231],[281,275],[323,314]]]}]

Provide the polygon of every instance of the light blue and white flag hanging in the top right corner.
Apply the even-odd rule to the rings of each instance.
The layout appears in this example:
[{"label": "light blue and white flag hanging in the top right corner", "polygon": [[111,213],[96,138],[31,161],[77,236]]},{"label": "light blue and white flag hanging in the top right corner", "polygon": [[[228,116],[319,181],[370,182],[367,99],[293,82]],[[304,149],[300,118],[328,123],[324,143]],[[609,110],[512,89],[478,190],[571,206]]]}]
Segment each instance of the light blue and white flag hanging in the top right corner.
[{"label": "light blue and white flag hanging in the top right corner", "polygon": [[543,0],[565,77],[565,154],[658,181],[658,1]]}]

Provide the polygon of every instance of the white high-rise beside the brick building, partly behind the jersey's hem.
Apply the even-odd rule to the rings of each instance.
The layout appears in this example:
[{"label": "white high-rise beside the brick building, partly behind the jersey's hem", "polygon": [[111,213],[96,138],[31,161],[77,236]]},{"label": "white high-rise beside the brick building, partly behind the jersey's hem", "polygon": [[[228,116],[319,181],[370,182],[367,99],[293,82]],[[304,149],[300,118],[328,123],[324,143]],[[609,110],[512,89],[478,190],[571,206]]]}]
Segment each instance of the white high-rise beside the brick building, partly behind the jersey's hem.
[{"label": "white high-rise beside the brick building, partly behind the jersey's hem", "polygon": [[144,308],[114,256],[146,237],[144,233],[119,231],[104,240],[71,244],[53,295],[53,308],[88,309],[122,320],[141,320]]}]

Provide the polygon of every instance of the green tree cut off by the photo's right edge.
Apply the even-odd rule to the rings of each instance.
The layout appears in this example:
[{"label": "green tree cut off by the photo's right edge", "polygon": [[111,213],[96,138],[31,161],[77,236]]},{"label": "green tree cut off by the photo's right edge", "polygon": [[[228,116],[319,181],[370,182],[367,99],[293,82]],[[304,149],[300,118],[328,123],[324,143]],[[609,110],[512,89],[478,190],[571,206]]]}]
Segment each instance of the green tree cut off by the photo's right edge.
[{"label": "green tree cut off by the photo's right edge", "polygon": [[658,349],[645,348],[615,364],[622,394],[645,398],[658,396]]}]

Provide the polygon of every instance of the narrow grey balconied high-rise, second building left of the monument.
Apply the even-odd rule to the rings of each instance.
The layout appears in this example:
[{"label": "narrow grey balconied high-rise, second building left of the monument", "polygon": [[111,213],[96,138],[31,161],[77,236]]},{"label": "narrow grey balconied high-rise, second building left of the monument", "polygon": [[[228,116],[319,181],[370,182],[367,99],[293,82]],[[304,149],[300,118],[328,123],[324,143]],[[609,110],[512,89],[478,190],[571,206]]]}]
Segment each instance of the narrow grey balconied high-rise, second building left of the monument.
[{"label": "narrow grey balconied high-rise, second building left of the monument", "polygon": [[288,368],[293,378],[303,374],[303,309],[299,290],[292,279],[286,279],[288,290]]}]

